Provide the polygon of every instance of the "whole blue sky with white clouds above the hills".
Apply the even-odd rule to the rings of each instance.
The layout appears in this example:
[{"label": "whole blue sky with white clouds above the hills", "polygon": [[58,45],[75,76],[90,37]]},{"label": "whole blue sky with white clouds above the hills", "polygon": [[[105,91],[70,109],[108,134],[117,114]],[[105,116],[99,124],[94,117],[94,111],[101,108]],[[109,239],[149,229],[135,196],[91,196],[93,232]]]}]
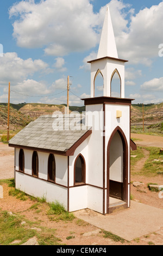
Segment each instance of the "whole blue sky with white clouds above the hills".
[{"label": "whole blue sky with white clouds above the hills", "polygon": [[[90,96],[95,59],[109,3],[118,57],[127,59],[125,96],[163,101],[163,2],[160,0],[5,0],[1,3],[0,102],[82,106]],[[163,53],[163,50],[161,51]],[[100,92],[99,92],[100,93]]]}]

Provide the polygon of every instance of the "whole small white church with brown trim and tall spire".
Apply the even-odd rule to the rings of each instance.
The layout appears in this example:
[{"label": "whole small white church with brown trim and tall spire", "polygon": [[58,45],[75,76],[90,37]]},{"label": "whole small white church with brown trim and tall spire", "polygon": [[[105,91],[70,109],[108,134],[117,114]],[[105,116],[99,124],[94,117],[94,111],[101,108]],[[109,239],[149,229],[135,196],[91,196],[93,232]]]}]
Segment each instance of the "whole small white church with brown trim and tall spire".
[{"label": "whole small white church with brown trim and tall spire", "polygon": [[[91,97],[85,114],[44,115],[10,139],[15,149],[15,185],[69,212],[91,209],[110,214],[130,207],[130,106],[124,97],[124,64],[119,59],[109,7],[97,59],[91,60]],[[98,74],[103,96],[95,95]],[[112,78],[120,79],[113,97]]]}]

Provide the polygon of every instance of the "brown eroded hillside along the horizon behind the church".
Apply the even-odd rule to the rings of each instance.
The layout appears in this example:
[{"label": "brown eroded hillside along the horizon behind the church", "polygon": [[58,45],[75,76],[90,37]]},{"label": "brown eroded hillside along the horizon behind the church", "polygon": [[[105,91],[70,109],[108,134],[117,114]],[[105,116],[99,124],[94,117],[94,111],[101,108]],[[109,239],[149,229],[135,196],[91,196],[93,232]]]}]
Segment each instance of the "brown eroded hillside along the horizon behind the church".
[{"label": "brown eroded hillside along the horizon behind the church", "polygon": [[[55,111],[65,113],[65,104],[50,105],[41,103],[20,103],[10,104],[10,129],[22,129],[30,121],[40,117],[40,115],[53,114]],[[85,111],[85,106],[70,106],[70,112]],[[131,125],[142,125],[142,104],[131,105]],[[0,129],[7,129],[8,103],[0,103]],[[163,103],[154,105],[144,105],[145,125],[161,124],[163,122]]]}]

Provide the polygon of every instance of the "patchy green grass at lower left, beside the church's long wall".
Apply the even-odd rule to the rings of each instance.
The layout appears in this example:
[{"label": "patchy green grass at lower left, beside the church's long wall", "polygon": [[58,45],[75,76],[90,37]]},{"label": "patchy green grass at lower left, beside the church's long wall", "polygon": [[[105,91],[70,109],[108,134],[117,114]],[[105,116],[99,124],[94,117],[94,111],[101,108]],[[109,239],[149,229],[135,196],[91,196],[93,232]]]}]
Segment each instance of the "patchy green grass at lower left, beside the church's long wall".
[{"label": "patchy green grass at lower left, beside the church's long wall", "polygon": [[[8,184],[10,188],[9,196],[14,196],[20,200],[27,200],[30,196],[16,190],[14,180],[0,180],[0,185]],[[30,209],[35,209],[37,212],[41,211],[41,205],[46,204],[47,215],[53,221],[72,221],[74,216],[69,214],[64,206],[58,202],[48,204],[45,198],[30,197],[34,201]],[[29,209],[29,210],[30,210]],[[34,229],[32,227],[35,227]],[[10,214],[7,211],[0,209],[0,244],[10,245],[17,240],[16,245],[21,245],[31,237],[36,236],[39,245],[61,245],[61,240],[55,236],[55,229],[42,227],[40,222],[31,222],[26,220],[20,214]]]}]

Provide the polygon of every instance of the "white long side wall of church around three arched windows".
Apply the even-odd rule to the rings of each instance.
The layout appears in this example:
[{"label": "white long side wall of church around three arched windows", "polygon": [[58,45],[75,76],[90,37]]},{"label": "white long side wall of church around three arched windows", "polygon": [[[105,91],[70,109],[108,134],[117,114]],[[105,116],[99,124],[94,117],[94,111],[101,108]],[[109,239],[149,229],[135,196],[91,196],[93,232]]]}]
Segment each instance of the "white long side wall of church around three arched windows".
[{"label": "white long side wall of church around three arched windows", "polygon": [[[15,150],[15,166],[18,170],[20,149]],[[39,157],[39,178],[32,176],[32,150],[24,149],[24,174],[15,173],[16,188],[34,197],[46,197],[47,202],[59,200],[67,209],[67,156],[54,155],[56,164],[56,184],[47,181],[48,153],[37,152]],[[27,174],[27,175],[26,175]],[[59,184],[59,185],[57,185]]]}]

